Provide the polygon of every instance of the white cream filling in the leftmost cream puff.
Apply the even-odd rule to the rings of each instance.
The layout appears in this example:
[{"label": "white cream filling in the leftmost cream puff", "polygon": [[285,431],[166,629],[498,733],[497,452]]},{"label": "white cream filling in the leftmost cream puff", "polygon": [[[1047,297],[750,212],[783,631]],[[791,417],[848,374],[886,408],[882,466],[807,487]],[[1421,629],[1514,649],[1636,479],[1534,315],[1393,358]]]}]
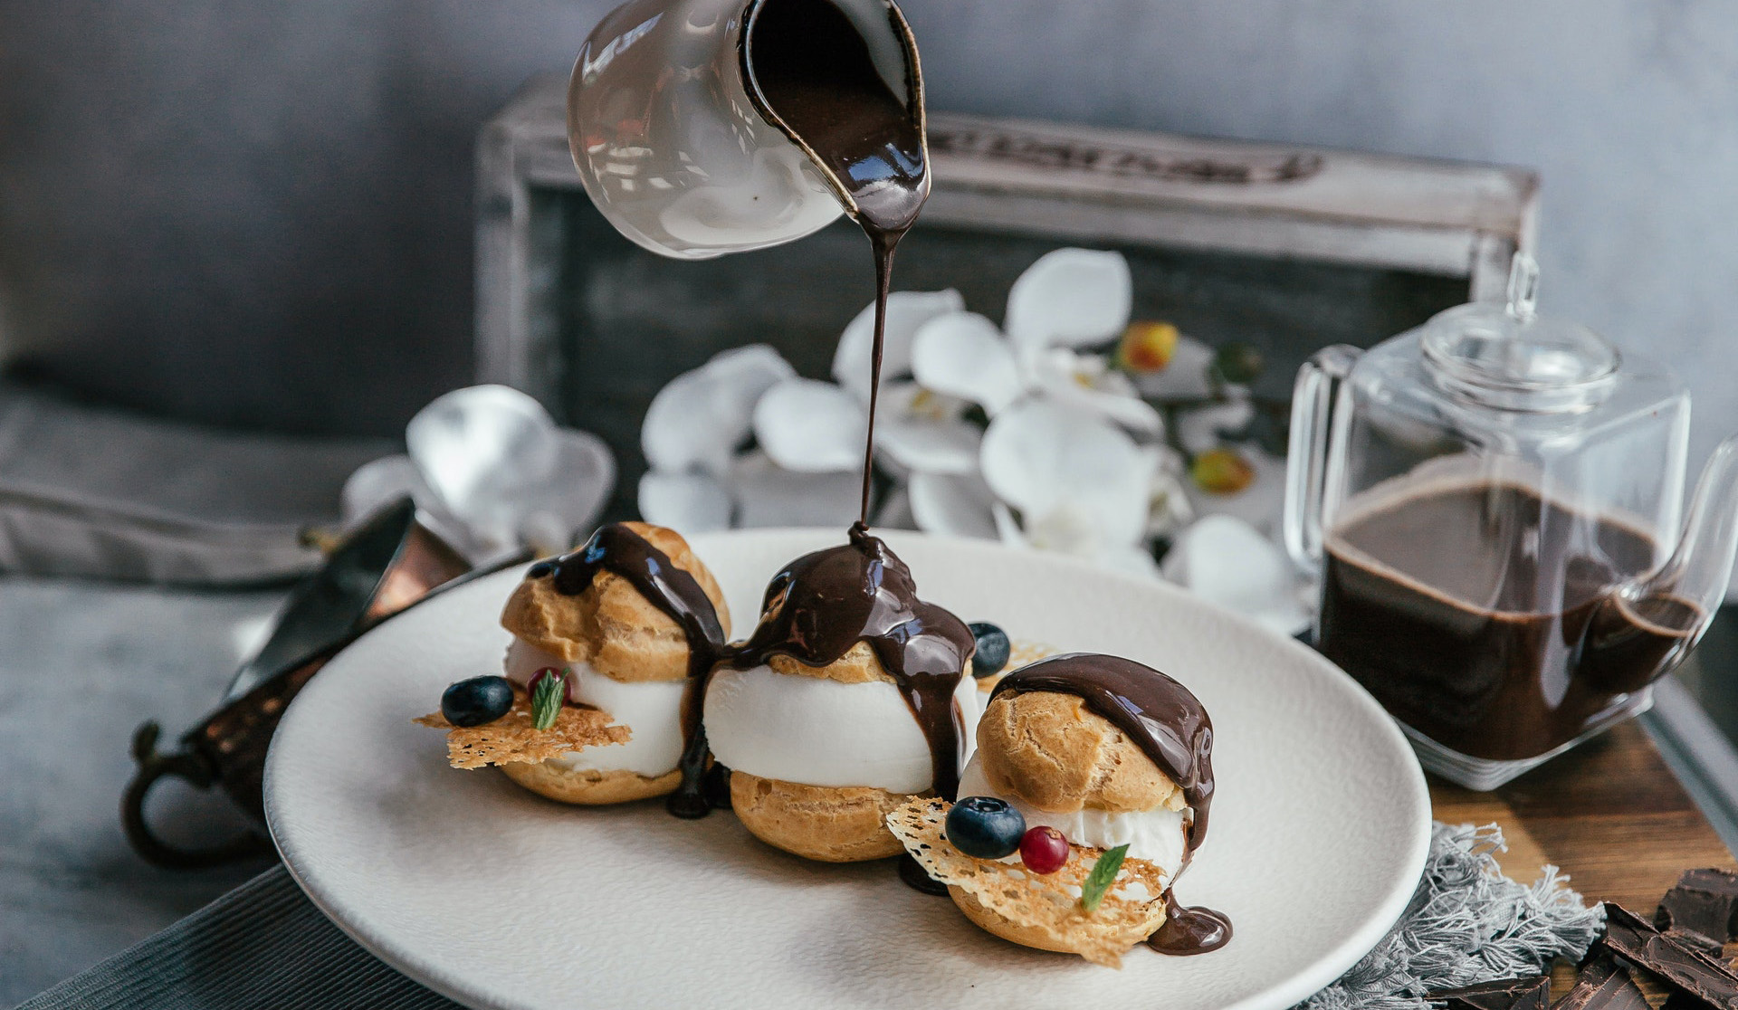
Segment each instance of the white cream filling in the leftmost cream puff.
[{"label": "white cream filling in the leftmost cream puff", "polygon": [[551,763],[586,772],[634,772],[655,779],[676,770],[681,758],[681,695],[687,680],[624,683],[591,668],[567,662],[553,652],[514,638],[507,647],[506,676],[525,687],[539,669],[567,668],[574,701],[596,706],[633,732],[626,744],[570,751]]}]

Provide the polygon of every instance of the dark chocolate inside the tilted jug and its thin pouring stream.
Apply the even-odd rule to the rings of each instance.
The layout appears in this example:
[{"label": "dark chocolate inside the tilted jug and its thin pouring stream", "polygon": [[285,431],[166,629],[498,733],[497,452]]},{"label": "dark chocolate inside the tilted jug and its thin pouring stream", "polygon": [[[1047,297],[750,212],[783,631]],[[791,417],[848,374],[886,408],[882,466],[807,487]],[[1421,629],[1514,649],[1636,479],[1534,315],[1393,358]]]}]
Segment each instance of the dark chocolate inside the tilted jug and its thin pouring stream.
[{"label": "dark chocolate inside the tilted jug and its thin pouring stream", "polygon": [[[904,17],[886,10],[909,42]],[[744,76],[768,118],[803,146],[845,196],[846,212],[874,250],[874,356],[869,379],[869,436],[859,522],[869,522],[874,417],[881,391],[886,296],[893,249],[930,198],[923,80],[911,45],[900,99],[874,66],[869,43],[829,0],[763,0],[749,19]]]}]

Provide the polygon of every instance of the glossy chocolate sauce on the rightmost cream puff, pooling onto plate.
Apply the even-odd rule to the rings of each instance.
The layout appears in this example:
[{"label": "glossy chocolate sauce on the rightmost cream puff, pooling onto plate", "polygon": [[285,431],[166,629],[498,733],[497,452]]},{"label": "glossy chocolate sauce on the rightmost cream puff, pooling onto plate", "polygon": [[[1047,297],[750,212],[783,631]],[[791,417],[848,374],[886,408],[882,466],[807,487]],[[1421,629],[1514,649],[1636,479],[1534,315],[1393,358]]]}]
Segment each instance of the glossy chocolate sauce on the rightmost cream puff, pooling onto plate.
[{"label": "glossy chocolate sauce on the rightmost cream puff, pooling onto plate", "polygon": [[[1051,655],[1001,678],[991,701],[1025,692],[1071,694],[1088,711],[1123,730],[1154,765],[1184,791],[1192,819],[1185,834],[1182,876],[1206,840],[1213,805],[1213,720],[1187,687],[1131,659],[1071,652]],[[1175,880],[1173,880],[1175,883]],[[1164,888],[1164,925],[1147,937],[1161,954],[1204,954],[1231,942],[1231,920],[1187,907]]]}]

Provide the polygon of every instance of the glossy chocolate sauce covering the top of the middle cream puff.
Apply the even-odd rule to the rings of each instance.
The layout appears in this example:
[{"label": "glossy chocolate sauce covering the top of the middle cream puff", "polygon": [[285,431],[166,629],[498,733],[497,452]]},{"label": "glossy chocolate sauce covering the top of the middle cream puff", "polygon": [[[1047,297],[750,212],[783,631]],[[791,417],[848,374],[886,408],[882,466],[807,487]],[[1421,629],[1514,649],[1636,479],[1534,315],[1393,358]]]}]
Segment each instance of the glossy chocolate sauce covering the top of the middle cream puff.
[{"label": "glossy chocolate sauce covering the top of the middle cream puff", "polygon": [[959,787],[959,723],[954,688],[972,661],[972,629],[951,612],[918,598],[911,568],[862,523],[850,542],[796,558],[766,584],[754,635],[726,661],[737,669],[789,655],[827,666],[859,641],[904,695],[930,744],[935,794]]}]

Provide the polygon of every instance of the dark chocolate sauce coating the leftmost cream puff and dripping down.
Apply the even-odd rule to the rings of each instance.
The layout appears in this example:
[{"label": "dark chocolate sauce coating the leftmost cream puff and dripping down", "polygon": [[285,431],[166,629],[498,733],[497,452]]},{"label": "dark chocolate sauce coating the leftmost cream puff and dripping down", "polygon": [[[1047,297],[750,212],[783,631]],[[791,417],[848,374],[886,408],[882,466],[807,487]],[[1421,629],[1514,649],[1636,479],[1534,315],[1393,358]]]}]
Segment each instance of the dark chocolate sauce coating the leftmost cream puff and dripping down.
[{"label": "dark chocolate sauce coating the leftmost cream puff and dripping down", "polygon": [[666,807],[678,817],[706,817],[713,805],[704,794],[707,761],[700,713],[713,668],[728,652],[718,610],[692,574],[678,568],[669,555],[622,523],[598,528],[570,555],[532,565],[525,577],[553,577],[556,593],[577,596],[591,588],[598,572],[627,579],[648,603],[669,614],[688,640],[688,687],[681,702],[683,753],[678,763],[681,784]]}]

